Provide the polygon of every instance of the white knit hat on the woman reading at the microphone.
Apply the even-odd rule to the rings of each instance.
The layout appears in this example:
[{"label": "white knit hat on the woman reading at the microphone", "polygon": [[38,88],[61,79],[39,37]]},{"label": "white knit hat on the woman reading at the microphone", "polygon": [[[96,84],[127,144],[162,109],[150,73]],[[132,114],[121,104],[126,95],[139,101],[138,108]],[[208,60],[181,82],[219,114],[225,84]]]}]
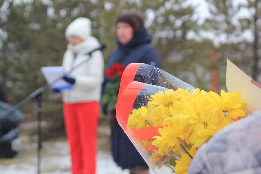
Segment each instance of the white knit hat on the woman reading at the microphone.
[{"label": "white knit hat on the woman reading at the microphone", "polygon": [[91,21],[86,17],[79,17],[71,22],[65,31],[65,37],[69,40],[70,36],[77,36],[81,39],[87,39],[91,35]]}]

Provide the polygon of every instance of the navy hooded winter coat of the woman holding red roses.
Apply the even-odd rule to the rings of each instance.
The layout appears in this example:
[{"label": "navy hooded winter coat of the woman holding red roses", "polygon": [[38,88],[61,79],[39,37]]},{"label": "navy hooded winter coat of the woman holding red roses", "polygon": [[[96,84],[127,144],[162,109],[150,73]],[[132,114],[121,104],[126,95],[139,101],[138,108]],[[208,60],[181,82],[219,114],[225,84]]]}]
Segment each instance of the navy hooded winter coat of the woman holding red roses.
[{"label": "navy hooded winter coat of the woman holding red roses", "polygon": [[[125,66],[131,63],[145,63],[160,68],[161,60],[159,54],[150,43],[151,36],[144,27],[126,45],[122,45],[117,40],[118,48],[111,53],[107,69],[115,62]],[[105,78],[103,88],[107,82],[108,79]],[[112,152],[114,161],[122,168],[133,168],[139,165],[146,166],[146,162],[117,121],[112,124]]]}]

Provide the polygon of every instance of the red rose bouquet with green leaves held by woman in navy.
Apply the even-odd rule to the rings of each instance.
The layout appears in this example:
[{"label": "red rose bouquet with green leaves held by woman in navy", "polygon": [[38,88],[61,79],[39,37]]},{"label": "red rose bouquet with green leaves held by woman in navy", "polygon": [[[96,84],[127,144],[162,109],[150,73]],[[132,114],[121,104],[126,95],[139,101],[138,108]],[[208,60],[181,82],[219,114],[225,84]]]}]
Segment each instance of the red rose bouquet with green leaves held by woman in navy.
[{"label": "red rose bouquet with green leaves held by woman in navy", "polygon": [[124,65],[116,62],[112,64],[111,68],[105,70],[105,75],[110,81],[104,87],[105,93],[102,97],[102,102],[108,105],[109,110],[115,110],[120,80],[124,69]]}]

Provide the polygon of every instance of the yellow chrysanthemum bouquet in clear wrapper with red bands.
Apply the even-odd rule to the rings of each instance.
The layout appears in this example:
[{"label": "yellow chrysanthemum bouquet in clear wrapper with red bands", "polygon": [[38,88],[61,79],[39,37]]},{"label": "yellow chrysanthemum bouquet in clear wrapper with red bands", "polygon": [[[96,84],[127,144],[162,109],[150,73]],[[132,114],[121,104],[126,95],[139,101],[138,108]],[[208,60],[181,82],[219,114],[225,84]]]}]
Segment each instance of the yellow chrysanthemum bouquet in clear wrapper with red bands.
[{"label": "yellow chrysanthemum bouquet in clear wrapper with red bands", "polygon": [[240,92],[221,90],[218,95],[194,89],[146,64],[132,64],[125,71],[117,119],[155,173],[187,173],[204,142],[224,126],[246,117],[247,104]]}]

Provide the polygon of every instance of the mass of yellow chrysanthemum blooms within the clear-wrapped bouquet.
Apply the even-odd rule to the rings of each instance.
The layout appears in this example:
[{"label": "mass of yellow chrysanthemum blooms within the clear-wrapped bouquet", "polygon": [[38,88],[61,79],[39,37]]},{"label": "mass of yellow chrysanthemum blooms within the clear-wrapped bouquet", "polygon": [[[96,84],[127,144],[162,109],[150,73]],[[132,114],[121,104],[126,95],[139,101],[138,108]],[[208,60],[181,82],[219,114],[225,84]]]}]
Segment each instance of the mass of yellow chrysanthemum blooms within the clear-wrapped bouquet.
[{"label": "mass of yellow chrysanthemum blooms within the clear-wrapped bouquet", "polygon": [[[147,107],[133,110],[128,120],[128,127],[163,126],[153,141],[143,141],[142,146],[151,149],[150,160],[160,168],[162,165],[174,166],[175,173],[186,174],[191,157],[183,153],[180,141],[194,157],[196,148],[207,142],[218,130],[233,123],[233,119],[246,117],[243,109],[247,104],[240,93],[225,93],[221,96],[212,91],[184,89],[160,91],[151,95]],[[150,144],[151,143],[151,144]],[[152,146],[153,148],[155,148]],[[166,154],[166,155],[164,155]],[[173,155],[176,154],[176,155]],[[164,160],[162,156],[167,156]],[[173,160],[180,157],[180,160]],[[170,162],[171,161],[171,162]],[[174,162],[175,161],[175,162]]]}]

